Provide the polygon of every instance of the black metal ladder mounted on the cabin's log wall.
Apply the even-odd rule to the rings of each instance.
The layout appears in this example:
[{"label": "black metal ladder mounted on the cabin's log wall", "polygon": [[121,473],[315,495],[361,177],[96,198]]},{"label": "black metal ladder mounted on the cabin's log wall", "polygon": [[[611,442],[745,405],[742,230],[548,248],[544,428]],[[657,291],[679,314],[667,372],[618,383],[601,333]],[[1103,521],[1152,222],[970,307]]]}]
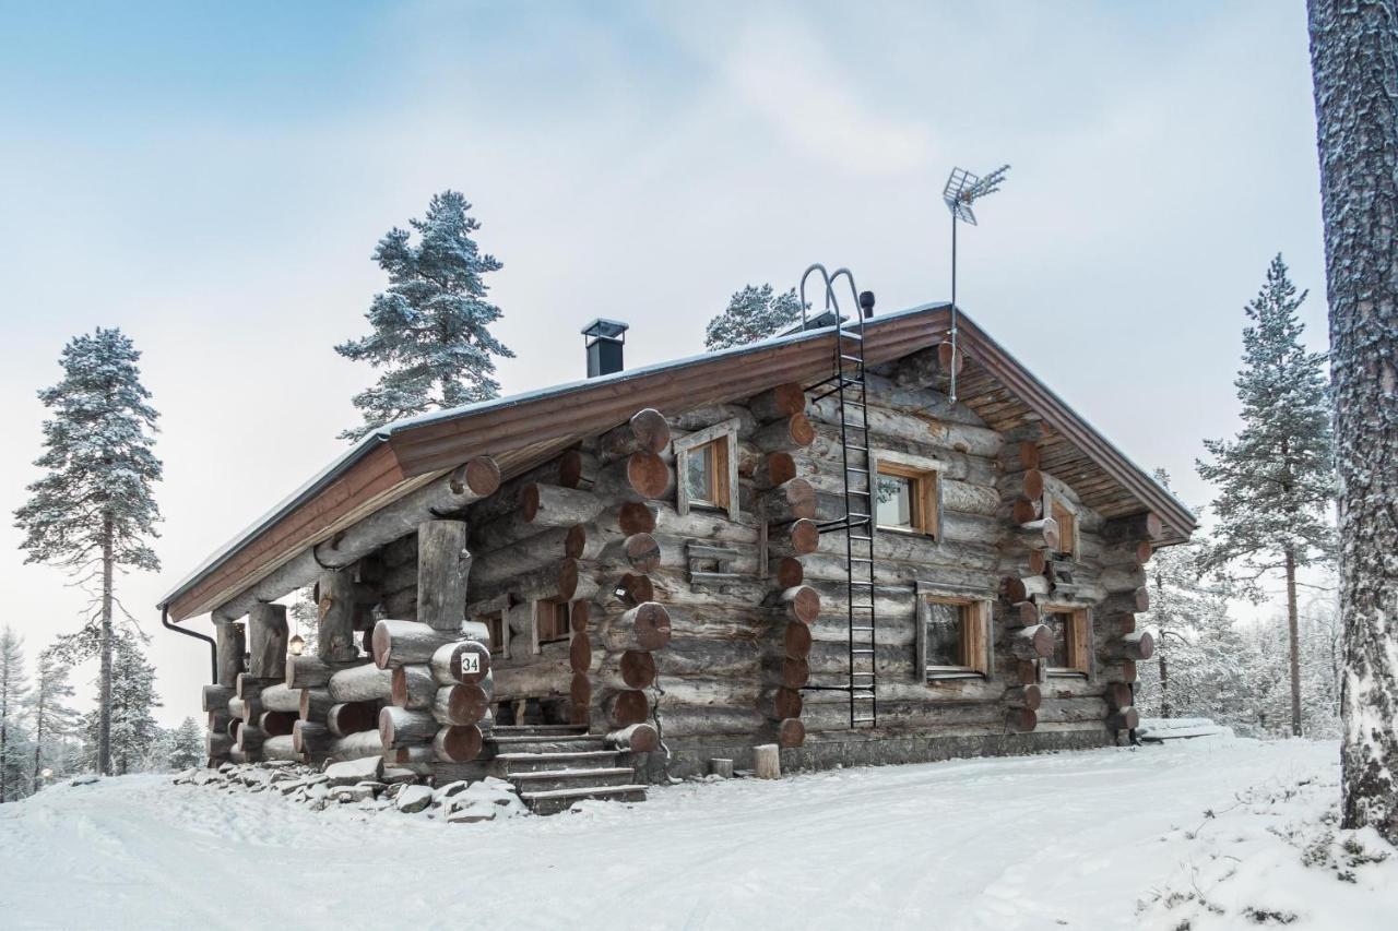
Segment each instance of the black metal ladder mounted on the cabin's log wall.
[{"label": "black metal ladder mounted on the cabin's log wall", "polygon": [[[854,275],[847,268],[828,275],[822,266],[811,266],[801,278],[801,305],[805,308],[805,277],[819,270],[825,275],[826,310],[835,313],[835,375],[812,387],[814,401],[839,400],[840,467],[843,470],[843,514],[822,521],[819,530],[844,533],[846,604],[849,621],[849,677],[842,685],[811,685],[811,691],[847,692],[850,727],[878,726],[878,616],[874,608],[874,535],[875,482],[874,457],[870,454],[868,382],[864,365],[864,315],[874,309],[874,295],[858,294]],[[846,277],[858,303],[856,323],[849,324],[835,299],[833,282]]]}]

